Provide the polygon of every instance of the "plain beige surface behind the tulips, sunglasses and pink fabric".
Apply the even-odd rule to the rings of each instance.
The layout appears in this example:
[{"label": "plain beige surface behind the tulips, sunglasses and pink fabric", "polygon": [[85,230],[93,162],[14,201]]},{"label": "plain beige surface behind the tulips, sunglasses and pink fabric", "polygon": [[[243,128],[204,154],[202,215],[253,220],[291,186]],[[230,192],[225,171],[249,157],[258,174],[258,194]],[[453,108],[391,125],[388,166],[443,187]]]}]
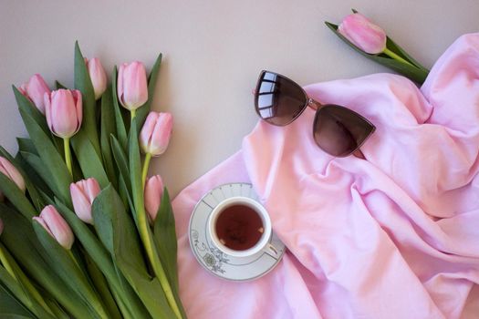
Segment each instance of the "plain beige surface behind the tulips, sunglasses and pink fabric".
[{"label": "plain beige surface behind the tulips, sunglasses and pink fabric", "polygon": [[[431,67],[457,36],[479,31],[479,1],[5,1],[0,0],[0,144],[16,152],[26,130],[11,85],[40,73],[73,84],[73,48],[113,65],[164,55],[153,108],[172,112],[170,148],[151,171],[171,192],[241,148],[257,118],[261,69],[301,85],[387,69],[360,57],[323,21],[354,7]],[[388,71],[389,72],[389,71]]]}]

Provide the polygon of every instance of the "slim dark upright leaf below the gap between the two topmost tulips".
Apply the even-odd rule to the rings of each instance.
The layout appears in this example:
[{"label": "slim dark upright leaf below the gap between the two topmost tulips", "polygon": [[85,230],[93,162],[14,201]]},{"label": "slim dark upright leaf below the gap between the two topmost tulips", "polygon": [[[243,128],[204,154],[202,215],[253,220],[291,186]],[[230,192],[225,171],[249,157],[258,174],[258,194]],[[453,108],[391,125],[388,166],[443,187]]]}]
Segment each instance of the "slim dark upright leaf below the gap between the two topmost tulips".
[{"label": "slim dark upright leaf below the gap between the two topmost tulips", "polygon": [[118,187],[118,178],[115,166],[113,165],[113,155],[111,154],[111,147],[109,145],[110,135],[115,136],[117,131],[115,127],[115,109],[113,108],[113,101],[111,98],[111,86],[101,97],[101,134],[100,146],[103,155],[103,165],[109,177],[109,180],[114,187]]}]

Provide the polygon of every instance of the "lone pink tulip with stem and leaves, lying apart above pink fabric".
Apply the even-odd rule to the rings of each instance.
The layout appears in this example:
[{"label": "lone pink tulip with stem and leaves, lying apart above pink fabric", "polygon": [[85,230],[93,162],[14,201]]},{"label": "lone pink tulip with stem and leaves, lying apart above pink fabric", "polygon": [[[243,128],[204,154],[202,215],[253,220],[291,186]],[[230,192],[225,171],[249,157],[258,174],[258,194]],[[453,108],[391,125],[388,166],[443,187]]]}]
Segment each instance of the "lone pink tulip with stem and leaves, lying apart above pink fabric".
[{"label": "lone pink tulip with stem and leaves, lying apart above pink fabric", "polygon": [[326,26],[362,56],[422,84],[429,70],[386,36],[380,26],[376,26],[356,10],[352,11],[353,14],[346,16],[339,26],[325,22]]}]

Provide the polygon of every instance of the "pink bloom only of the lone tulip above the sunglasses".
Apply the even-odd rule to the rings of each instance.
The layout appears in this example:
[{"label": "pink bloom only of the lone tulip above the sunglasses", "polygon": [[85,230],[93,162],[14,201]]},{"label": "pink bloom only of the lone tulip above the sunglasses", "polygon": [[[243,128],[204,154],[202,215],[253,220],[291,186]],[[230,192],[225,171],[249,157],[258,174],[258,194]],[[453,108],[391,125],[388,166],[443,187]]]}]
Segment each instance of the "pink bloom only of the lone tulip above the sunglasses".
[{"label": "pink bloom only of the lone tulip above the sunglasses", "polygon": [[346,16],[338,26],[338,32],[366,53],[374,55],[386,48],[386,33],[364,15]]}]

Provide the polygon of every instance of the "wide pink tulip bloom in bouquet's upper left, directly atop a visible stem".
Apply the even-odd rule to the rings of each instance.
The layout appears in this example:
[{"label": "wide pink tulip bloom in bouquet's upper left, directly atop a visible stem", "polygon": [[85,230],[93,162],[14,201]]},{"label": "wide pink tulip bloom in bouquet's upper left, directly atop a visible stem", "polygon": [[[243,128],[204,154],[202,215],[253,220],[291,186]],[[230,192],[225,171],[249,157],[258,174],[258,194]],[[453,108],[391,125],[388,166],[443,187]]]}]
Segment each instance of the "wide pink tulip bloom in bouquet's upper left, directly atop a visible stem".
[{"label": "wide pink tulip bloom in bouquet's upper left, directly atop a visible stem", "polygon": [[69,139],[77,134],[83,117],[81,92],[78,89],[58,89],[45,94],[47,124],[53,134]]}]

